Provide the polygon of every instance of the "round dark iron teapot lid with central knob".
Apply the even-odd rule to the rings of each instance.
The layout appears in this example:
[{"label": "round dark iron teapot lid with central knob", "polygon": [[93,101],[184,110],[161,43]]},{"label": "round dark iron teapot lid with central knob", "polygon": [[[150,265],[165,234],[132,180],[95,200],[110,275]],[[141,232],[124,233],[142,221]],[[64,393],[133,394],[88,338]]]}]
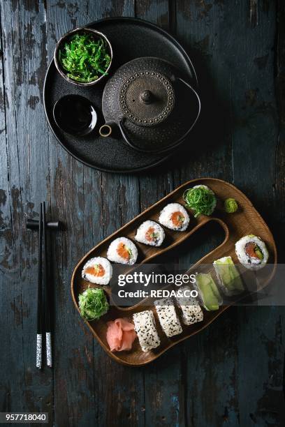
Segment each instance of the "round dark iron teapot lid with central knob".
[{"label": "round dark iron teapot lid with central knob", "polygon": [[138,68],[133,71],[119,89],[119,105],[124,117],[140,126],[161,123],[175,105],[173,84],[156,71]]}]

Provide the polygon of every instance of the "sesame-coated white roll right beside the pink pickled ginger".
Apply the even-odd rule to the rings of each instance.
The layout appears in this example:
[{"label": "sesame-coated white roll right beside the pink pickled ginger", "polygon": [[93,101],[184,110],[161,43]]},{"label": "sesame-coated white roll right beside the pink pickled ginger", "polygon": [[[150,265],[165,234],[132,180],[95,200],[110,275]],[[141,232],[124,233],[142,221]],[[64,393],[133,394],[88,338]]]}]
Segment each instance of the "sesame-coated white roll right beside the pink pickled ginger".
[{"label": "sesame-coated white roll right beside the pink pickled ginger", "polygon": [[133,315],[135,331],[143,352],[159,347],[160,339],[157,334],[154,313],[151,310],[140,311]]}]

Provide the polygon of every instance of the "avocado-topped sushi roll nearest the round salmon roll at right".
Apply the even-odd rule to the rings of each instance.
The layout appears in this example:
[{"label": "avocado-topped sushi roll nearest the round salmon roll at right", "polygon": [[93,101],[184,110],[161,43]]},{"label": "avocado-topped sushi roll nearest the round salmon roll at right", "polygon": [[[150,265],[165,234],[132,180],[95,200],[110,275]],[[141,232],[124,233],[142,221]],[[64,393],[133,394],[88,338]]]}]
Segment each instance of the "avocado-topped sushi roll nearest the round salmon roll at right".
[{"label": "avocado-topped sushi roll nearest the round salmon roll at right", "polygon": [[244,291],[242,279],[231,257],[223,257],[213,262],[219,286],[224,294],[231,297]]}]

